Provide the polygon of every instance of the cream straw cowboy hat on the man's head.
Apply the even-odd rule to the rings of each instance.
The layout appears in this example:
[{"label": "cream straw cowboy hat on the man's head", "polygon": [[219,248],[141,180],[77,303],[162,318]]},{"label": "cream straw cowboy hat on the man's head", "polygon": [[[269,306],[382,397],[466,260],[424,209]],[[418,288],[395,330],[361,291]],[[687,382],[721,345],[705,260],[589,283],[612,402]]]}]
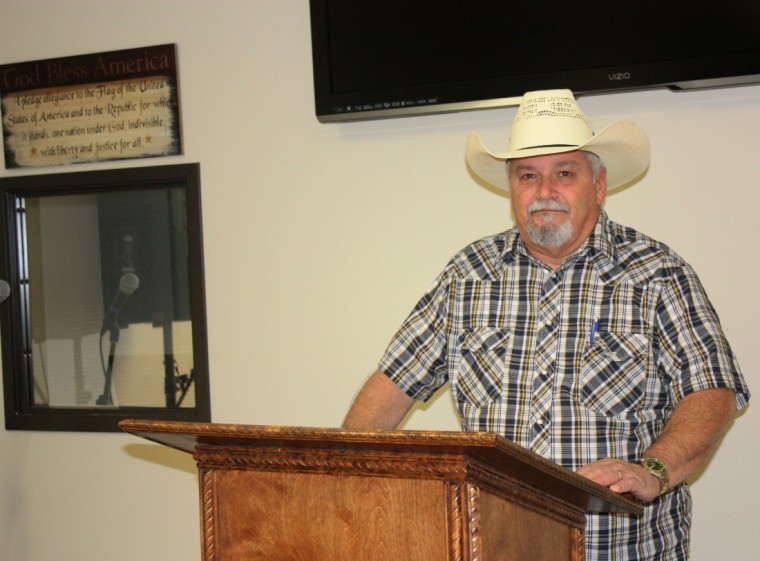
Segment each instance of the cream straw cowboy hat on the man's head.
[{"label": "cream straw cowboy hat on the man's head", "polygon": [[649,139],[638,125],[622,121],[594,134],[570,90],[526,93],[512,123],[507,151],[493,154],[477,134],[470,133],[465,158],[483,181],[509,190],[507,160],[573,150],[586,150],[601,158],[609,189],[633,181],[649,166]]}]

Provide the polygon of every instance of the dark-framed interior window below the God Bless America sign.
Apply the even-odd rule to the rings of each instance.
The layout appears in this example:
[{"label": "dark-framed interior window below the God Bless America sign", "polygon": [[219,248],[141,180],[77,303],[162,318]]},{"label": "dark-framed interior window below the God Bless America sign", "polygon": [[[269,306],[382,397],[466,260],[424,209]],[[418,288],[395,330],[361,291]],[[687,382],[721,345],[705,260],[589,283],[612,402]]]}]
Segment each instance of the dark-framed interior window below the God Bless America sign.
[{"label": "dark-framed interior window below the God Bless America sign", "polygon": [[7,429],[211,420],[199,176],[0,179]]}]

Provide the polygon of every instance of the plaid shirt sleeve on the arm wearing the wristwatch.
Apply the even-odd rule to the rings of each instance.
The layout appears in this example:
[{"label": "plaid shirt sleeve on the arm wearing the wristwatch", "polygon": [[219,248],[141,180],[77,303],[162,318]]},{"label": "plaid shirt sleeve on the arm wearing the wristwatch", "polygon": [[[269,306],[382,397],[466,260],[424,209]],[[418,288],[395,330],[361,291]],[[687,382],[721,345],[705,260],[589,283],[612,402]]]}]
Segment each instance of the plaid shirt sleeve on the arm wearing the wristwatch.
[{"label": "plaid shirt sleeve on the arm wearing the wristwatch", "polygon": [[749,402],[749,388],[718,315],[693,269],[676,267],[657,306],[661,365],[675,398],[711,388],[736,391],[737,409]]}]

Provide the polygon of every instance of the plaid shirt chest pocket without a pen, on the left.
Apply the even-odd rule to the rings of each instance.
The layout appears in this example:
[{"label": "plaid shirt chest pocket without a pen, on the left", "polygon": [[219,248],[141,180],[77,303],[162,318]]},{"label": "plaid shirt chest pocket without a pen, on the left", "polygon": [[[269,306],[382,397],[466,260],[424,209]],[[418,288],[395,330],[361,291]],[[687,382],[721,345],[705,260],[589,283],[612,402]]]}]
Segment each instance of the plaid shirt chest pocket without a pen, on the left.
[{"label": "plaid shirt chest pocket without a pen, on the left", "polygon": [[459,335],[459,360],[451,383],[458,400],[483,407],[501,399],[509,336],[509,330],[497,327],[476,327]]}]

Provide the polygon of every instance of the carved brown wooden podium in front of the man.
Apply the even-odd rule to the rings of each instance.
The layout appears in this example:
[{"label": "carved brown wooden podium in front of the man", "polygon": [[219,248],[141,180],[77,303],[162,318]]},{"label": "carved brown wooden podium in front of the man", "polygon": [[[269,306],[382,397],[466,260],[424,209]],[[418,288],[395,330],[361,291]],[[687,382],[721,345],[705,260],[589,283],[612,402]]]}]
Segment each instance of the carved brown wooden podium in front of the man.
[{"label": "carved brown wooden podium in front of the man", "polygon": [[490,433],[134,421],[198,464],[203,561],[583,561],[640,503]]}]

